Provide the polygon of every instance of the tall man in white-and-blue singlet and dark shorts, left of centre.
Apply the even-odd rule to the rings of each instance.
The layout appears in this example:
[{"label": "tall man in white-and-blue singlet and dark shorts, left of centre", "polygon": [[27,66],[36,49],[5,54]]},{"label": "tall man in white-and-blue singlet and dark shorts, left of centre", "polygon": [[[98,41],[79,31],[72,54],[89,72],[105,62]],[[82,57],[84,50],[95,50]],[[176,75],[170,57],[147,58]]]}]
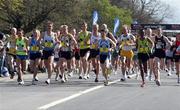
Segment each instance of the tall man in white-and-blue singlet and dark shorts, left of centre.
[{"label": "tall man in white-and-blue singlet and dark shorts, left of centre", "polygon": [[42,45],[43,48],[43,59],[44,64],[48,71],[48,79],[45,81],[46,84],[50,84],[51,75],[53,72],[53,61],[54,61],[54,47],[55,47],[55,37],[56,33],[53,31],[53,23],[51,21],[47,22],[47,31],[42,33]]}]

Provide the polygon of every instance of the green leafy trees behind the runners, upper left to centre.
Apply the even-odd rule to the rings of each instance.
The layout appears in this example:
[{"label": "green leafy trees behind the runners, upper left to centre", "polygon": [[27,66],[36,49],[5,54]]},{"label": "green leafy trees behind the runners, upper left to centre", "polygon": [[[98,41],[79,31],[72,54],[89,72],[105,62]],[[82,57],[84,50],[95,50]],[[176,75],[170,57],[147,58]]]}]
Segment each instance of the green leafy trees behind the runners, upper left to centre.
[{"label": "green leafy trees behind the runners, upper left to centre", "polygon": [[110,30],[116,17],[121,24],[132,21],[130,11],[112,6],[109,0],[0,0],[0,31],[12,26],[26,33],[35,28],[43,30],[47,20],[54,22],[56,30],[62,24],[79,29],[83,21],[91,29],[94,10],[99,13],[98,24],[106,23]]}]

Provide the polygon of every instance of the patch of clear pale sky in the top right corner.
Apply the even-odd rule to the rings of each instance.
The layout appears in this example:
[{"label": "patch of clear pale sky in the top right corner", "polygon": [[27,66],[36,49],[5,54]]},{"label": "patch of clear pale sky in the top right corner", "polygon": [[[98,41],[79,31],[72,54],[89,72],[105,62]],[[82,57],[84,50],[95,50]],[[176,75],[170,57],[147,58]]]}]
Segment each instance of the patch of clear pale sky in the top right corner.
[{"label": "patch of clear pale sky in the top right corner", "polygon": [[161,0],[170,5],[172,17],[165,19],[168,24],[180,24],[180,0]]}]

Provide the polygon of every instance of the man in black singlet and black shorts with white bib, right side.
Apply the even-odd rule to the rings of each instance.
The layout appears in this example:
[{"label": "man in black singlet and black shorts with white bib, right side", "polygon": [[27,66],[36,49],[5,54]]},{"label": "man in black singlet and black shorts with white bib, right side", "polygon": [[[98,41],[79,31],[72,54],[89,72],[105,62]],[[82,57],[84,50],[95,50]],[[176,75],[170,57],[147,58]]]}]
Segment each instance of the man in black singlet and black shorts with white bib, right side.
[{"label": "man in black singlet and black shorts with white bib, right side", "polygon": [[168,40],[167,37],[163,36],[161,28],[158,28],[157,32],[158,32],[158,35],[155,36],[155,41],[154,41],[155,50],[154,50],[154,69],[153,70],[155,74],[156,84],[160,86],[161,85],[160,69],[164,70],[165,49],[166,49],[166,46],[170,45],[170,41]]}]

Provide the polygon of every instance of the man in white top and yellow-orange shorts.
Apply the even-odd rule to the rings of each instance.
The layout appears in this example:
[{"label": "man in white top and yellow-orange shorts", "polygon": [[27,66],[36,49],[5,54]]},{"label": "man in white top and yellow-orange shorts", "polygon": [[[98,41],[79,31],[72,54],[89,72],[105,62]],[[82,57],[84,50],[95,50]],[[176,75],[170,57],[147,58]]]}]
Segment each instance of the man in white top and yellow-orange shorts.
[{"label": "man in white top and yellow-orange shorts", "polygon": [[123,26],[123,34],[118,38],[118,43],[121,47],[121,62],[122,62],[122,78],[121,81],[126,80],[126,75],[131,70],[131,61],[134,56],[132,51],[132,46],[135,45],[135,38],[131,34],[128,33],[128,27],[126,25]]}]

